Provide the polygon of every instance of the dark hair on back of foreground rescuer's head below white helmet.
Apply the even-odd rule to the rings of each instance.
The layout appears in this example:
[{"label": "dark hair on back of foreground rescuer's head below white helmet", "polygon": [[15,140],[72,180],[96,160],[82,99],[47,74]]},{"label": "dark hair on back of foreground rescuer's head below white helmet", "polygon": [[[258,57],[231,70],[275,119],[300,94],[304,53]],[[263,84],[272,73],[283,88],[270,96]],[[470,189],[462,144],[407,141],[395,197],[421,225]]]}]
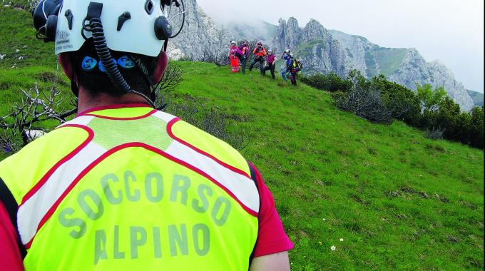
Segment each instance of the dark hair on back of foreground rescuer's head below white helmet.
[{"label": "dark hair on back of foreground rescuer's head below white helmet", "polygon": [[[73,65],[73,72],[76,73],[78,78],[79,86],[83,86],[91,96],[97,96],[100,93],[107,93],[111,96],[121,96],[123,93],[118,91],[118,89],[111,83],[110,78],[106,73],[99,71],[98,68],[95,68],[93,71],[82,71],[81,70],[81,61],[85,56],[91,56],[93,58],[98,59],[96,51],[93,46],[93,42],[91,39],[86,41],[84,45],[78,50],[74,52],[68,53],[69,58],[71,59],[71,65]],[[133,60],[139,59],[141,65],[145,66],[148,71],[148,77],[151,78],[153,73],[155,72],[155,68],[158,63],[158,57],[151,57],[151,56],[143,56],[137,53],[125,53],[119,51],[111,51],[111,55],[113,58],[117,59],[121,56],[128,56]],[[120,68],[121,75],[125,78],[126,82],[128,83],[133,90],[143,93],[150,97],[151,89],[150,83],[143,73],[141,69],[138,68],[138,65],[130,70],[125,70]],[[158,82],[152,82],[158,83]]]}]

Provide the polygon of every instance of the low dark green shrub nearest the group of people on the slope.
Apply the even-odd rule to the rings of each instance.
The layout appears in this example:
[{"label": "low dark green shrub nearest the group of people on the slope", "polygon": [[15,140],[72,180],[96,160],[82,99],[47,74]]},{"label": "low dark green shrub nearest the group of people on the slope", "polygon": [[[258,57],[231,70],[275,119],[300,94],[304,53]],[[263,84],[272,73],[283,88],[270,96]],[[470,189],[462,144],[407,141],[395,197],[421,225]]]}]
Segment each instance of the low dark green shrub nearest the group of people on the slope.
[{"label": "low dark green shrub nearest the group of people on the slope", "polygon": [[328,74],[316,73],[312,76],[303,77],[301,80],[308,86],[324,91],[347,92],[352,88],[352,81],[342,79],[334,72]]}]

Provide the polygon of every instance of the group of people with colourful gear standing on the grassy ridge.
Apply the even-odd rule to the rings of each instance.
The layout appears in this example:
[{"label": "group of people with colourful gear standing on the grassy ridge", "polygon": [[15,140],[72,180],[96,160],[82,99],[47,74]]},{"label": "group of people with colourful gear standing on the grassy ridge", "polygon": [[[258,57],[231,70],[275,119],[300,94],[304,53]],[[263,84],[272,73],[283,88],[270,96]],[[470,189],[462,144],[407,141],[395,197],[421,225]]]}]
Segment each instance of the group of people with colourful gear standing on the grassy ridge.
[{"label": "group of people with colourful gear standing on the grassy ridge", "polygon": [[[229,59],[231,71],[233,73],[238,73],[239,71],[241,71],[242,74],[245,74],[246,63],[249,54],[250,48],[247,41],[242,42],[240,46],[238,46],[235,41],[231,41]],[[265,76],[266,71],[270,71],[271,77],[275,79],[275,63],[278,59],[275,53],[272,50],[266,50],[266,48],[262,46],[262,42],[257,41],[256,47],[252,50],[252,54],[255,55],[255,58],[250,63],[249,70],[252,71],[252,68],[254,68],[255,64],[260,63],[261,74]],[[297,73],[298,71],[301,71],[302,64],[300,63],[300,60],[295,58],[295,56],[291,53],[290,49],[286,49],[283,52],[282,58],[285,59],[286,65],[281,66],[281,77],[283,78],[283,80],[287,81],[287,73],[290,73],[290,81],[293,86],[296,86]]]}]

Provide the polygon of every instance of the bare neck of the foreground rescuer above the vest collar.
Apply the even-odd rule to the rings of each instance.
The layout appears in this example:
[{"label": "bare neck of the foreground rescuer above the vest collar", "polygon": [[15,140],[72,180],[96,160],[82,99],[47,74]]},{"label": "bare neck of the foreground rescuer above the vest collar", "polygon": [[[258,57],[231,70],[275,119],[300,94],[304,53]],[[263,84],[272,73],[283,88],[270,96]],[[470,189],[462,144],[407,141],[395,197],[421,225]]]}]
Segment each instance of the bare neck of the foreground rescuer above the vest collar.
[{"label": "bare neck of the foreground rescuer above the vest collar", "polygon": [[88,91],[79,89],[78,96],[78,113],[88,111],[91,108],[100,106],[111,106],[121,103],[147,103],[147,101],[136,94],[129,93],[123,96],[115,97],[106,93],[100,93],[96,96],[92,96]]}]

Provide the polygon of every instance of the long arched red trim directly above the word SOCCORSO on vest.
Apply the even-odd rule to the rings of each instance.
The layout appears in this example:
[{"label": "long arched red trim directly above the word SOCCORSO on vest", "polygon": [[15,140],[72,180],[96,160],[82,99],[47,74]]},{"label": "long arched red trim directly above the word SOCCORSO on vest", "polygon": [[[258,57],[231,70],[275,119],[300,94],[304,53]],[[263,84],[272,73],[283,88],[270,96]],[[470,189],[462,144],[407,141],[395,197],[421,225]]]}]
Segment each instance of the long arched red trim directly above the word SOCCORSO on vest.
[{"label": "long arched red trim directly above the word SOCCORSO on vest", "polygon": [[[51,206],[51,208],[48,210],[48,212],[46,213],[46,215],[44,215],[44,218],[42,218],[41,222],[39,223],[39,226],[37,227],[37,232],[39,232],[39,230],[41,230],[41,227],[43,227],[46,224],[47,220],[49,218],[51,218],[51,216],[53,215],[53,213],[56,212],[58,206],[61,204],[62,200],[64,198],[66,198],[66,196],[68,195],[68,193],[70,193],[71,190],[73,190],[73,188],[79,183],[79,181],[86,174],[88,174],[96,165],[98,165],[99,163],[101,163],[104,159],[108,158],[113,153],[118,152],[119,150],[123,150],[125,148],[136,148],[136,147],[145,148],[146,150],[150,150],[153,153],[157,153],[159,155],[162,155],[163,157],[167,158],[168,160],[172,160],[173,162],[178,163],[180,165],[183,165],[183,166],[185,166],[185,168],[189,168],[190,170],[193,170],[195,173],[198,173],[199,175],[202,175],[203,177],[205,177],[208,180],[212,181],[215,185],[218,185],[218,187],[220,187],[221,189],[223,189],[225,191],[225,193],[228,193],[228,195],[230,195],[231,198],[233,198],[234,200],[236,200],[239,203],[239,205],[242,207],[242,209],[244,209],[247,213],[249,213],[250,215],[254,216],[255,218],[258,217],[258,214],[255,211],[251,210],[250,208],[247,208],[244,204],[242,204],[240,202],[240,200],[238,200],[238,198],[236,198],[236,196],[232,192],[230,192],[230,190],[228,190],[228,188],[225,188],[224,185],[221,185],[220,183],[218,183],[217,180],[215,180],[212,177],[210,177],[210,175],[208,175],[207,173],[203,172],[203,170],[200,170],[199,168],[195,168],[193,165],[190,165],[188,163],[185,163],[183,160],[180,160],[178,158],[175,158],[172,155],[170,155],[168,153],[165,153],[163,150],[160,150],[158,148],[154,148],[154,147],[152,147],[150,145],[146,145],[144,143],[126,143],[126,144],[123,144],[123,145],[118,145],[115,148],[112,148],[111,150],[108,150],[106,153],[103,153],[103,155],[101,155],[98,159],[94,160],[93,163],[91,163],[91,165],[88,165],[87,168],[85,168],[83,171],[81,171],[81,173],[79,173],[79,175],[76,177],[76,179],[74,179],[73,182],[68,186],[68,188],[62,193],[61,197],[59,197],[56,200],[56,203],[54,203]],[[34,238],[37,235],[37,232],[34,235],[34,237],[32,237],[32,239],[25,245],[26,249],[29,249],[31,247],[32,242],[34,241]]]}]

